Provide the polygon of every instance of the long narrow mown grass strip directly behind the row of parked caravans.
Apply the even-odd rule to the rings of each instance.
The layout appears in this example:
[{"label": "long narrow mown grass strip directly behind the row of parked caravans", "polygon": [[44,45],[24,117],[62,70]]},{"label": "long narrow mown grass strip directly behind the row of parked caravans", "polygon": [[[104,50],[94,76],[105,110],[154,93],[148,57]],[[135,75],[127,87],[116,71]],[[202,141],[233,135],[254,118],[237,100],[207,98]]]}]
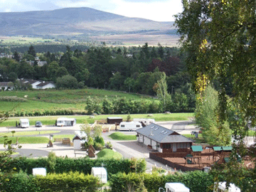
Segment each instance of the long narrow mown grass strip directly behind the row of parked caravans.
[{"label": "long narrow mown grass strip directly behind the row of parked caravans", "polygon": [[[156,122],[166,122],[166,121],[186,121],[188,118],[193,117],[193,113],[171,113],[171,114],[130,114],[131,118],[153,118],[156,120]],[[75,118],[77,119],[78,124],[82,124],[85,122],[85,120],[88,123],[94,123],[96,120],[101,120],[101,119],[107,119],[107,117],[122,117],[123,120],[125,121],[127,119],[127,114],[101,114],[94,116],[92,119],[91,116],[89,115],[64,115],[61,117],[70,117],[70,118]],[[2,122],[0,124],[0,127],[15,127],[16,122],[19,121],[20,118],[24,117],[11,117],[7,119],[5,122]],[[46,117],[26,117],[29,119],[30,124],[33,126],[36,124],[36,121],[41,121],[44,125],[48,124],[55,124],[55,120],[58,119],[58,116],[46,116]]]}]

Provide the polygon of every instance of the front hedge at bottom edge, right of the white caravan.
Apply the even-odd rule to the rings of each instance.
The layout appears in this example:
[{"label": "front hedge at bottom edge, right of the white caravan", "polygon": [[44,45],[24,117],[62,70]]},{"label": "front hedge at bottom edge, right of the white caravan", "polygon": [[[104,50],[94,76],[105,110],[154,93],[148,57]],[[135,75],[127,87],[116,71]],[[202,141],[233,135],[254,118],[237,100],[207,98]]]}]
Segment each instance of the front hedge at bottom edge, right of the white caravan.
[{"label": "front hedge at bottom edge, right of the white caravan", "polygon": [[122,192],[127,191],[127,187],[131,186],[136,190],[142,186],[148,192],[159,191],[159,188],[164,188],[167,182],[183,183],[190,188],[191,192],[206,192],[210,191],[210,186],[213,186],[213,176],[203,171],[191,171],[184,174],[169,174],[167,176],[160,176],[159,174],[123,174],[119,173],[112,175],[110,178],[110,186],[112,191]]}]

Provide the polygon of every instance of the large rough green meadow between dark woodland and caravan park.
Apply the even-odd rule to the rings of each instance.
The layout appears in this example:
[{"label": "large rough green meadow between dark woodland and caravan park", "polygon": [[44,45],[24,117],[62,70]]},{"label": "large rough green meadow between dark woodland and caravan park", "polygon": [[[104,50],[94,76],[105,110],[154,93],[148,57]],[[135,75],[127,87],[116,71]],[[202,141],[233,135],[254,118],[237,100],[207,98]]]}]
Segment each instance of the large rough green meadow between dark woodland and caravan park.
[{"label": "large rough green meadow between dark woodland and caravan park", "polygon": [[[110,99],[126,97],[131,100],[154,100],[152,97],[144,95],[97,89],[6,91],[0,93],[0,111],[9,111],[14,108],[14,112],[21,113],[19,116],[30,112],[41,113],[58,110],[82,113],[85,112],[87,97],[97,97],[101,103],[105,95]],[[11,97],[11,101],[6,101],[6,97]]]}]

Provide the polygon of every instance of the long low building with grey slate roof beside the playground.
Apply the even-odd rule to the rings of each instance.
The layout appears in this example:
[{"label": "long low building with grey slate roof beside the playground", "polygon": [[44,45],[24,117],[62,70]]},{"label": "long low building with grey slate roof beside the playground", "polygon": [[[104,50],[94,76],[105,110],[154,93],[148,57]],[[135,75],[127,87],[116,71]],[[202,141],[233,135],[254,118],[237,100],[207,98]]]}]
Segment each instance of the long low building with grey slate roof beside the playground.
[{"label": "long low building with grey slate roof beside the playground", "polygon": [[154,123],[137,129],[135,132],[137,132],[138,142],[151,146],[151,149],[161,153],[182,151],[182,149],[191,148],[192,143],[195,142],[171,129]]}]

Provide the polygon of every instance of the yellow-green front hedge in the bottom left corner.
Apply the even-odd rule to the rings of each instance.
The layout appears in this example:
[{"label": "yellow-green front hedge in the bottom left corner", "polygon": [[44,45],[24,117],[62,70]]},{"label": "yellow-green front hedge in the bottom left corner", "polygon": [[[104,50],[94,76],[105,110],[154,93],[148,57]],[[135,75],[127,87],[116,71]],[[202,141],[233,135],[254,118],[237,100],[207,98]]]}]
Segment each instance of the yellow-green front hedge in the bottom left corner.
[{"label": "yellow-green front hedge in the bottom left corner", "polygon": [[2,185],[0,191],[12,192],[53,192],[53,191],[98,191],[102,186],[95,176],[69,172],[63,174],[47,174],[46,176],[28,176],[21,171],[10,176]]}]

